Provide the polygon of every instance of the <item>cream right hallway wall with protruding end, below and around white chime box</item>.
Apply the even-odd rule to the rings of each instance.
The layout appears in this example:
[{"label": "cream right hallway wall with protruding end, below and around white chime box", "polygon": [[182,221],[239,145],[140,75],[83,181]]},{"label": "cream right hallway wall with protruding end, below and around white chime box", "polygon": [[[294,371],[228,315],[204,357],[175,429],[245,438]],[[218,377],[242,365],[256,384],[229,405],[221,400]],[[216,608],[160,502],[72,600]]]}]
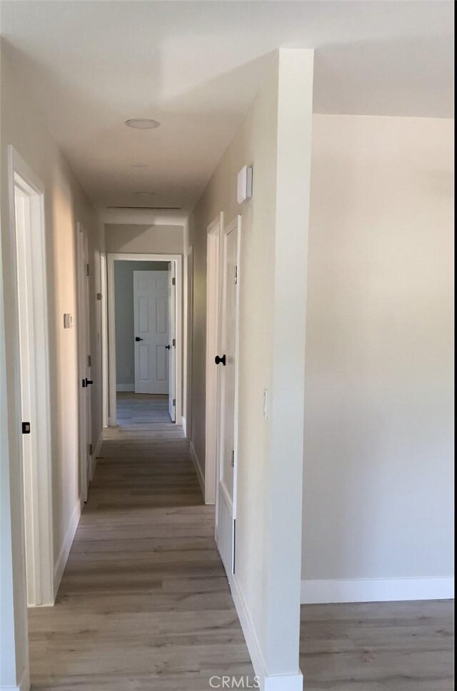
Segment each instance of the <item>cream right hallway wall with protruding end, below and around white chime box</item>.
[{"label": "cream right hallway wall with protruding end, below and around white chime box", "polygon": [[[312,51],[278,52],[186,233],[194,249],[190,436],[203,468],[206,228],[221,211],[226,224],[241,213],[233,592],[256,671],[266,685],[277,677],[275,688],[290,690],[302,683],[298,616],[305,323],[296,313],[304,312],[306,297],[312,56]],[[236,175],[246,164],[253,165],[253,198],[238,206]],[[268,420],[263,418],[264,388],[270,391]]]}]

